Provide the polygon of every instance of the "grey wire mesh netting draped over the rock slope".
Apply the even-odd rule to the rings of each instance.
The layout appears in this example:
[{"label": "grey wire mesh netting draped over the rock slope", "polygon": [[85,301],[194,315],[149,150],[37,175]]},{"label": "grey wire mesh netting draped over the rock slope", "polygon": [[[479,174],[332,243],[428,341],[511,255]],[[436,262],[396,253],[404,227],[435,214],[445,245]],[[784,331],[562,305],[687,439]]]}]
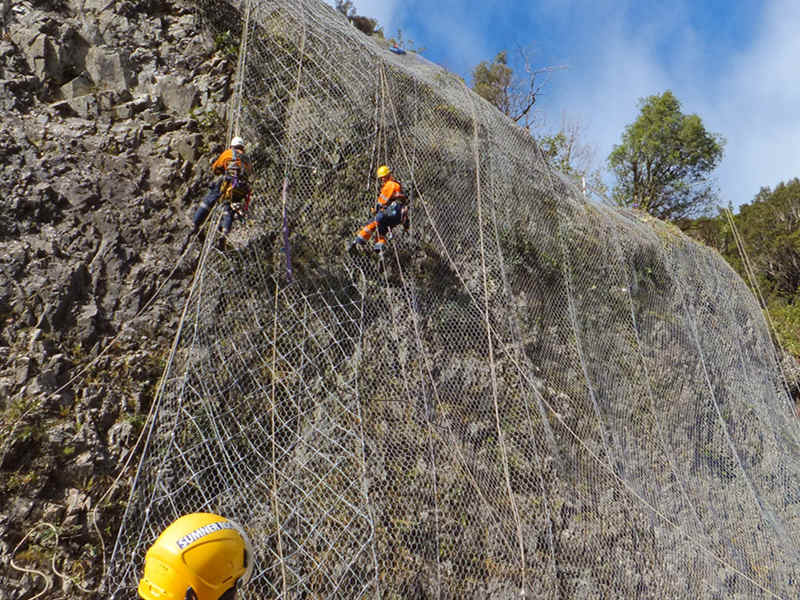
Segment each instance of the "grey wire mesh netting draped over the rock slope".
[{"label": "grey wire mesh netting draped over the rock slope", "polygon": [[[206,240],[112,597],[201,510],[254,542],[244,598],[798,596],[791,393],[718,255],[587,202],[459,77],[321,2],[198,14],[241,50],[257,200]],[[350,254],[380,164],[411,228]]]}]

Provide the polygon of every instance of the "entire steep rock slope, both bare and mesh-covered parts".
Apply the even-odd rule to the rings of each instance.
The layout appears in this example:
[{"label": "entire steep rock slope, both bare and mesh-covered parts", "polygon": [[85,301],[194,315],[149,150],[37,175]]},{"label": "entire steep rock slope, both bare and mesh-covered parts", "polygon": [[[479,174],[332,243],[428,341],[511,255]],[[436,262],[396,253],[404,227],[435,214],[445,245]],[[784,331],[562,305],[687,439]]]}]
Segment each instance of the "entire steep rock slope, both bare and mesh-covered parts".
[{"label": "entire steep rock slope, both bare and mesh-covered parts", "polygon": [[[222,148],[237,4],[198,2],[214,37],[182,2],[2,11],[0,600],[108,597],[91,590],[194,270],[179,248]],[[309,597],[379,579],[404,598],[792,591],[797,438],[741,282],[663,223],[586,205],[455,76],[373,61],[329,6],[262,7],[241,122],[265,142],[257,189],[289,181],[299,283],[270,285],[282,207],[256,198],[238,251],[206,257],[104,570],[114,597],[166,519],[208,506],[247,519],[264,597],[284,567]],[[373,117],[386,99],[397,127]],[[327,260],[374,198],[376,128],[418,161],[383,277]]]}]

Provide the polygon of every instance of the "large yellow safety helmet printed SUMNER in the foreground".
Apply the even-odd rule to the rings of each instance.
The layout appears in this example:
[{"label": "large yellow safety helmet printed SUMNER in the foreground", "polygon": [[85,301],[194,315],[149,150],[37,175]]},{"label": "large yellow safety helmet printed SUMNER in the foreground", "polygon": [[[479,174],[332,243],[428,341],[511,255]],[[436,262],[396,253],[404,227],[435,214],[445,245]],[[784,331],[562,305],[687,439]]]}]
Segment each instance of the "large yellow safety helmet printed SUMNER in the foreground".
[{"label": "large yellow safety helmet printed SUMNER in the foreground", "polygon": [[234,521],[192,513],[167,527],[144,559],[144,600],[233,600],[253,572],[253,547]]}]

